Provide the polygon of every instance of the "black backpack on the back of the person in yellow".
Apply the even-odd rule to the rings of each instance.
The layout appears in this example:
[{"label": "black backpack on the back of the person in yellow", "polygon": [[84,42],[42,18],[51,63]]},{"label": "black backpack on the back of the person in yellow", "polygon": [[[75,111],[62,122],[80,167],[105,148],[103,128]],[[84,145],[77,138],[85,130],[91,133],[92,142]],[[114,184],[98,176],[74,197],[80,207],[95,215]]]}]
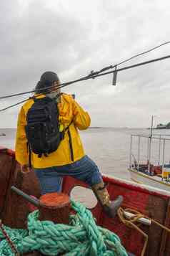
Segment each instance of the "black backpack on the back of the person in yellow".
[{"label": "black backpack on the back of the person in yellow", "polygon": [[26,138],[29,153],[34,152],[41,157],[56,151],[64,131],[59,131],[59,109],[51,98],[33,98],[34,104],[26,115]]}]

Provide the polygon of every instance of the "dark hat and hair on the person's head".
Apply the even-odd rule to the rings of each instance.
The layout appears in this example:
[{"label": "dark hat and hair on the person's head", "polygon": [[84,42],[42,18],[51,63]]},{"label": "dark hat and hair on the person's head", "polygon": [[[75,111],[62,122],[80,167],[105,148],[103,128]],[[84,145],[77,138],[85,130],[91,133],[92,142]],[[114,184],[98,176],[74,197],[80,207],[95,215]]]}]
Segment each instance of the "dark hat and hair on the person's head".
[{"label": "dark hat and hair on the person's head", "polygon": [[50,87],[53,82],[59,82],[58,75],[51,71],[44,72],[35,87],[36,93],[47,93],[48,89],[46,87]]}]

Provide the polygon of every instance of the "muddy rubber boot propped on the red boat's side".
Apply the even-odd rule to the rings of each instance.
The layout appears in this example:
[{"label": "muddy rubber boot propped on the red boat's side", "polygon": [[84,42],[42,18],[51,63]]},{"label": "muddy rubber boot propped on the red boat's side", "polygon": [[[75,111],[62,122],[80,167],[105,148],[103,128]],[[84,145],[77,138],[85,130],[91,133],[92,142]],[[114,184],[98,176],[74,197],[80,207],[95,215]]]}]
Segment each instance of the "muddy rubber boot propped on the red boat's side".
[{"label": "muddy rubber boot propped on the red boat's side", "polygon": [[104,185],[104,182],[100,182],[91,186],[91,189],[94,191],[96,198],[98,199],[101,207],[104,209],[104,212],[109,218],[116,216],[117,210],[123,202],[123,196],[118,196],[116,200],[110,201],[109,193]]}]

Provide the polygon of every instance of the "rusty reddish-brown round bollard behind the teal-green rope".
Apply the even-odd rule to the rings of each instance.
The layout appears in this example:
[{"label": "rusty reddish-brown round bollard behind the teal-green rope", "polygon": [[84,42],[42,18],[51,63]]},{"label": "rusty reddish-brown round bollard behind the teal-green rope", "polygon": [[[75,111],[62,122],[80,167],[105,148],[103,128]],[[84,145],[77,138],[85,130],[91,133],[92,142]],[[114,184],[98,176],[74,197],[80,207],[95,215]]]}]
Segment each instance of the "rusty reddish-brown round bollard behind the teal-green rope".
[{"label": "rusty reddish-brown round bollard behind the teal-green rope", "polygon": [[69,224],[70,199],[64,193],[48,193],[40,197],[39,220]]}]

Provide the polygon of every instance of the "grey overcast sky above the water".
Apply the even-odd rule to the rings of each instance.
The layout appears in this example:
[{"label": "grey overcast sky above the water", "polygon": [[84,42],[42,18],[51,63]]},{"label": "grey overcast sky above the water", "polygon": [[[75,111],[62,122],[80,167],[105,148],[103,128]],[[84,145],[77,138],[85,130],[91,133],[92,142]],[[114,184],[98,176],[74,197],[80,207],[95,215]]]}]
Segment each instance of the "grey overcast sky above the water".
[{"label": "grey overcast sky above the water", "polygon": [[[68,82],[170,40],[170,1],[0,1],[0,96],[32,90],[41,74]],[[170,44],[126,65],[169,55]],[[120,67],[124,67],[121,65]],[[170,59],[79,82],[64,89],[91,115],[91,125],[149,127],[170,121]],[[30,95],[0,100],[4,108]],[[16,127],[19,107],[0,113]]]}]

